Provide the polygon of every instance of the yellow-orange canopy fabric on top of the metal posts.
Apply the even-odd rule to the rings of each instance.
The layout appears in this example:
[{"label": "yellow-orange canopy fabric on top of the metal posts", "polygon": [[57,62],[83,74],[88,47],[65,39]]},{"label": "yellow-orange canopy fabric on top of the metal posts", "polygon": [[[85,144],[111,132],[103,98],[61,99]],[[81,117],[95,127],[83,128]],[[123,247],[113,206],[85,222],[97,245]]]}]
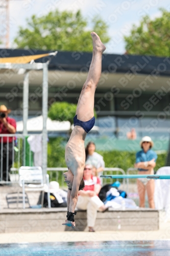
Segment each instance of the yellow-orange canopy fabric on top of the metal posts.
[{"label": "yellow-orange canopy fabric on top of the metal posts", "polygon": [[26,63],[29,63],[31,60],[39,59],[48,55],[50,54],[44,53],[44,54],[37,54],[37,55],[0,58],[0,63],[26,64]]}]

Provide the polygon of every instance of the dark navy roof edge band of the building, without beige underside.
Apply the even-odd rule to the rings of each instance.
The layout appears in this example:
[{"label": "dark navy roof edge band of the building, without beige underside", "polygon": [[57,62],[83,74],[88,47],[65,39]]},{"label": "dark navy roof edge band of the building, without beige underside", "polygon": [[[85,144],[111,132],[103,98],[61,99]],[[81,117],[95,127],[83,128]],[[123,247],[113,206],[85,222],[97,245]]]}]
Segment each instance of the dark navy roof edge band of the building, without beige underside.
[{"label": "dark navy roof edge band of the building, without beige underside", "polygon": [[[35,54],[44,54],[52,51],[0,49],[0,57],[16,57]],[[49,70],[86,71],[89,67],[92,53],[64,52],[58,54],[50,61]],[[50,57],[44,57],[35,62],[46,62]],[[102,71],[109,73],[137,73],[150,74],[157,71],[159,75],[170,75],[170,59],[166,57],[103,54]]]}]

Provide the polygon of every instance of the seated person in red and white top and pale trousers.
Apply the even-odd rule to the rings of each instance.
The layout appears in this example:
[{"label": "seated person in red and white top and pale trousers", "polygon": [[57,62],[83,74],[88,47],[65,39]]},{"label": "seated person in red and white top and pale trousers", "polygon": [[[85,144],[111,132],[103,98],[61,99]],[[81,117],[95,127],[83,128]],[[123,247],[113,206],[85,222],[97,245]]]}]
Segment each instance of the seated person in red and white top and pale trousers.
[{"label": "seated person in red and white top and pale trousers", "polygon": [[77,208],[87,210],[87,225],[90,232],[94,232],[97,211],[105,211],[107,207],[100,200],[98,194],[101,190],[101,180],[92,176],[92,165],[86,164],[83,172],[84,190],[79,190]]}]

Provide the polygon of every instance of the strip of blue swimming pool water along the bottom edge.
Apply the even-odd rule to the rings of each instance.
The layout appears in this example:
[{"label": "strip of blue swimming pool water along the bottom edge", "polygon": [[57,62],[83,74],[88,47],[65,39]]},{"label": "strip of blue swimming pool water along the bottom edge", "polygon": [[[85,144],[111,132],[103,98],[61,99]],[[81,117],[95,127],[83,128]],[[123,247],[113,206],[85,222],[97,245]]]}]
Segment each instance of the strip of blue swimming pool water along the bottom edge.
[{"label": "strip of blue swimming pool water along the bottom edge", "polygon": [[0,244],[0,255],[12,256],[170,256],[170,241],[109,241]]}]

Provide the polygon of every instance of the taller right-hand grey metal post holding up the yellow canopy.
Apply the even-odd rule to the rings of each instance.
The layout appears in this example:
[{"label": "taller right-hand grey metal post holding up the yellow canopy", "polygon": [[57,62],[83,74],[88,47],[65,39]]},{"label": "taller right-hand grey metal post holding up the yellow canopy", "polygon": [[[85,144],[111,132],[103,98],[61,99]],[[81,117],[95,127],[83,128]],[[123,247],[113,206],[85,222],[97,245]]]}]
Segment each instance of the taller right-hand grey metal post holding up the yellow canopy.
[{"label": "taller right-hand grey metal post holding up the yellow canopy", "polygon": [[43,181],[44,181],[44,183],[45,183],[46,168],[47,168],[47,131],[46,131],[47,111],[48,111],[48,64],[43,63],[43,81],[42,81],[42,116],[43,116],[42,172],[43,172]]}]

